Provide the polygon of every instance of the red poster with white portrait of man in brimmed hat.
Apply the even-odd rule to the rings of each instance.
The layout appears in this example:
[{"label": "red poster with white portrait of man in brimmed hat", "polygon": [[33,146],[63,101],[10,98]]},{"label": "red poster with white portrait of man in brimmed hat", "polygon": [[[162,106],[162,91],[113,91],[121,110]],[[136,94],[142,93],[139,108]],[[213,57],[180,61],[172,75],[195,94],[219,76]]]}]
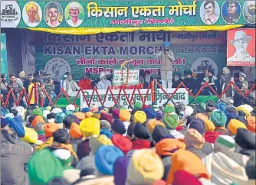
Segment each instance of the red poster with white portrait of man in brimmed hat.
[{"label": "red poster with white portrait of man in brimmed hat", "polygon": [[227,65],[255,65],[255,31],[254,29],[235,29],[228,31]]}]

